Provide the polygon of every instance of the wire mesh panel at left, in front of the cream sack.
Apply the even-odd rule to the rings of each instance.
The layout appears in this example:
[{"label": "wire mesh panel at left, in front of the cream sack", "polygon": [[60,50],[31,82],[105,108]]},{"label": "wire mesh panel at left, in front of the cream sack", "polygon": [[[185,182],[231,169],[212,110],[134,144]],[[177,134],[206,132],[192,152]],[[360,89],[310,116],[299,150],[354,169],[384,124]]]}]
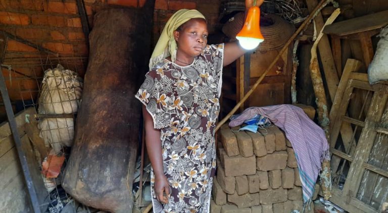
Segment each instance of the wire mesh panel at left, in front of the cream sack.
[{"label": "wire mesh panel at left, in front of the cream sack", "polygon": [[[77,207],[62,189],[61,177],[74,137],[87,57],[57,54],[10,33],[10,28],[6,30],[0,31],[4,77],[0,84],[7,88],[12,106],[7,110],[16,117],[23,116],[21,146],[31,148],[31,153],[24,149],[24,154],[34,157],[27,156],[31,176],[35,177],[26,177],[26,181],[32,181],[38,199],[38,203],[31,204],[38,204],[41,212],[60,212],[67,204],[78,209],[74,212],[81,212],[83,207]],[[66,48],[66,44],[57,48]],[[4,121],[8,98],[3,99]]]}]

